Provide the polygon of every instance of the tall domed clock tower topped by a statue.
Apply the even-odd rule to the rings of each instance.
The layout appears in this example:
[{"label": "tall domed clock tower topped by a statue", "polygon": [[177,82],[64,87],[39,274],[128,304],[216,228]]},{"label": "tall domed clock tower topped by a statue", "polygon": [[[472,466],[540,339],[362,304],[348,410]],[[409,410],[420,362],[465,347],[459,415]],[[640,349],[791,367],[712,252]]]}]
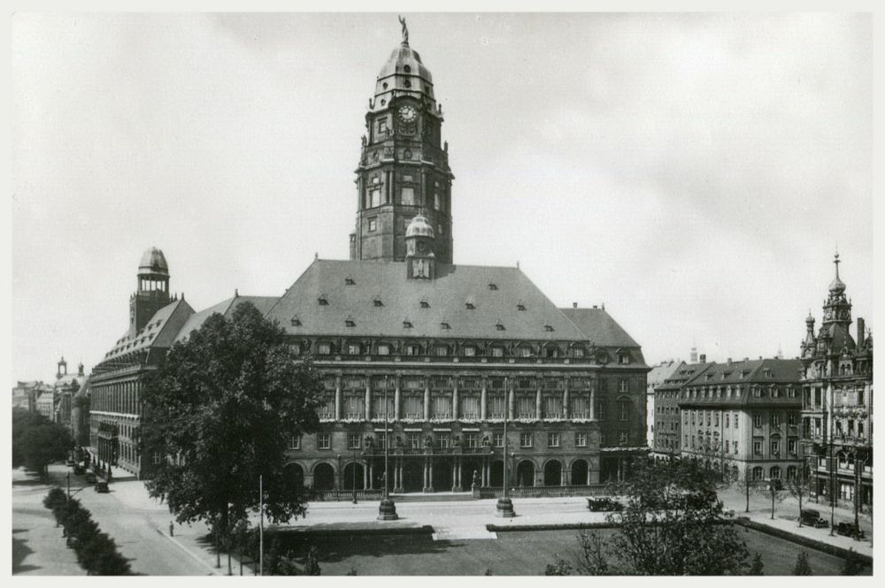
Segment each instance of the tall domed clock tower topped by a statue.
[{"label": "tall domed clock tower topped by a statue", "polygon": [[366,134],[357,178],[357,226],[350,234],[350,259],[404,261],[406,229],[424,217],[435,233],[439,263],[452,263],[449,146],[442,143],[443,107],[434,97],[433,77],[403,41],[390,54],[375,82],[366,112]]}]

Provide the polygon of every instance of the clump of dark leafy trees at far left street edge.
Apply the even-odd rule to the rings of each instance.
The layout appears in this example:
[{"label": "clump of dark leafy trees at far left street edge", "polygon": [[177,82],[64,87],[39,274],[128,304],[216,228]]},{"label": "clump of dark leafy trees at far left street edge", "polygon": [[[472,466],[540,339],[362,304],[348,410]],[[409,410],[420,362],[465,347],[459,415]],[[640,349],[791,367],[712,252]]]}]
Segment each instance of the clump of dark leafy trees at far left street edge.
[{"label": "clump of dark leafy trees at far left street edge", "polygon": [[25,466],[46,477],[47,466],[67,458],[73,448],[71,432],[61,424],[27,409],[12,409],[12,467]]}]

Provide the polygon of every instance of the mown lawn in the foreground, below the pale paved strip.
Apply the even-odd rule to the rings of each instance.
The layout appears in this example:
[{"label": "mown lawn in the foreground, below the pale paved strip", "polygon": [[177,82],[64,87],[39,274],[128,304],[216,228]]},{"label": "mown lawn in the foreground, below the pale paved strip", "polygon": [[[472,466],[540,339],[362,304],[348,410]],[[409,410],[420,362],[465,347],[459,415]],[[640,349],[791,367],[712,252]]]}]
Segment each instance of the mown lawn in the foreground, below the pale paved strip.
[{"label": "mown lawn in the foreground, below the pale paved strip", "polygon": [[[429,535],[344,536],[313,539],[324,576],[537,576],[559,555],[576,550],[577,531],[508,531],[496,540],[434,541]],[[613,531],[601,531],[603,536]],[[807,551],[815,575],[838,575],[843,560],[770,535],[738,528],[750,556],[761,554],[766,575],[789,575]]]}]

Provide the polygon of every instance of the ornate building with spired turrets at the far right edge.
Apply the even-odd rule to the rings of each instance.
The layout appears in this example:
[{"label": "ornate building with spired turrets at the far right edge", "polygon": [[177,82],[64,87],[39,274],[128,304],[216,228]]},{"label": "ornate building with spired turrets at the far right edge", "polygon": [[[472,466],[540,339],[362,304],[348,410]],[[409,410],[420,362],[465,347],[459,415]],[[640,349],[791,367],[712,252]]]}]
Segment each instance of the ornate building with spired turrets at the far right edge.
[{"label": "ornate building with spired turrets at the far right edge", "polygon": [[817,335],[814,317],[805,319],[803,444],[812,495],[862,510],[873,504],[873,335],[858,317],[857,340],[851,337],[851,302],[839,263],[836,254]]}]

